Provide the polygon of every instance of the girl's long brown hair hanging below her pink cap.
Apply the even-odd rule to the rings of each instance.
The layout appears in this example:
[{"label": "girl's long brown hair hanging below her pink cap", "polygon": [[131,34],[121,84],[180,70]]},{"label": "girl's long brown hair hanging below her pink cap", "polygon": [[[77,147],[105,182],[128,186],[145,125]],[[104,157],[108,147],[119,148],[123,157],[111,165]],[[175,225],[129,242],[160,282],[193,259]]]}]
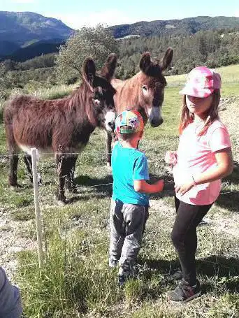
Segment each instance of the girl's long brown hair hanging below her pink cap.
[{"label": "girl's long brown hair hanging below her pink cap", "polygon": [[[220,89],[215,89],[212,93],[212,103],[210,108],[208,109],[207,113],[205,114],[207,116],[207,119],[205,120],[205,124],[203,126],[203,129],[198,133],[198,136],[202,136],[207,130],[208,127],[210,127],[210,124],[214,122],[215,120],[219,119],[218,115],[218,106],[220,101]],[[179,133],[181,135],[182,131],[187,127],[188,124],[194,121],[194,114],[189,111],[186,104],[186,95],[183,96],[182,99],[182,108],[180,112],[180,124],[179,124]]]}]

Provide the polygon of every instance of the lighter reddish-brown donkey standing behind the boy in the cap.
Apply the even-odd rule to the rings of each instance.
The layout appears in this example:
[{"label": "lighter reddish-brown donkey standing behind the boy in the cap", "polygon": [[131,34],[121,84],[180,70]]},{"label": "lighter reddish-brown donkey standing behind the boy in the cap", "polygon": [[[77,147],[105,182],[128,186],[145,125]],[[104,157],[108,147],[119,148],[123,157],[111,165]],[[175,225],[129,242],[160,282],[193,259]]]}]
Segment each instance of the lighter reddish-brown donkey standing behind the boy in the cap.
[{"label": "lighter reddish-brown donkey standing behind the boy in the cap", "polygon": [[[161,62],[153,62],[150,53],[145,52],[140,59],[140,72],[128,80],[111,80],[116,89],[114,96],[117,113],[123,110],[139,110],[145,122],[150,121],[152,127],[162,124],[161,106],[164,101],[164,87],[166,79],[163,71],[168,68],[173,58],[173,50],[168,48]],[[115,68],[116,55],[110,60]],[[107,133],[106,152],[107,163],[110,164],[112,135]]]}]

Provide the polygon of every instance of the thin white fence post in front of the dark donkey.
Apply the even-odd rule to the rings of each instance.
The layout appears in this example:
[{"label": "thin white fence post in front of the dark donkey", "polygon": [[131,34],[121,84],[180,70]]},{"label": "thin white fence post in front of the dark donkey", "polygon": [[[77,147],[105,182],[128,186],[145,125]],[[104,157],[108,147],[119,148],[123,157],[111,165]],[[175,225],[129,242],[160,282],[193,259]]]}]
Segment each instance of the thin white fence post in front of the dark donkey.
[{"label": "thin white fence post in front of the dark donkey", "polygon": [[39,205],[38,176],[36,168],[36,148],[31,148],[32,176],[34,182],[34,204],[36,214],[36,236],[38,244],[38,261],[39,268],[43,266],[43,232],[41,227],[41,211]]}]

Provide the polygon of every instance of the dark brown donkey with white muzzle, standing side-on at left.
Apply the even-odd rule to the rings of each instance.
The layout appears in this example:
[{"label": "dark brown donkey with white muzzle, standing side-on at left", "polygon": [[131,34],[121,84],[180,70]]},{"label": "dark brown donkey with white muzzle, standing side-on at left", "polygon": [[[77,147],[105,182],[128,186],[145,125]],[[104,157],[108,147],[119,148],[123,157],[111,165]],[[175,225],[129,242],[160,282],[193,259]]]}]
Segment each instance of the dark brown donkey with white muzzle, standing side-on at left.
[{"label": "dark brown donkey with white muzzle, standing side-on at left", "polygon": [[103,75],[96,75],[94,61],[86,59],[82,69],[82,84],[64,99],[42,100],[31,96],[16,96],[4,109],[6,140],[10,153],[9,184],[17,187],[18,153],[24,151],[31,181],[30,148],[41,152],[53,152],[59,175],[59,201],[66,201],[66,186],[74,190],[73,175],[76,152],[87,144],[96,127],[110,133],[114,129],[115,89],[110,80],[115,71],[115,55],[110,55],[103,67]]}]

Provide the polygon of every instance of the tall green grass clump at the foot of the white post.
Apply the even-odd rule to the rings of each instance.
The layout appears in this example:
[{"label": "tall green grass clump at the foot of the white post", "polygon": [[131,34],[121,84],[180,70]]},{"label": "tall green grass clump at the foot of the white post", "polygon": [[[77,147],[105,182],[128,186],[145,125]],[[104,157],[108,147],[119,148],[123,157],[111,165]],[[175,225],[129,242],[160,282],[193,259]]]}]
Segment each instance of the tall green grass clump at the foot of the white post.
[{"label": "tall green grass clump at the foot of the white post", "polygon": [[69,233],[61,212],[48,213],[55,221],[46,236],[43,270],[38,268],[36,254],[20,254],[24,315],[78,317],[79,313],[106,312],[121,297],[115,273],[108,270],[107,245],[84,230]]}]

